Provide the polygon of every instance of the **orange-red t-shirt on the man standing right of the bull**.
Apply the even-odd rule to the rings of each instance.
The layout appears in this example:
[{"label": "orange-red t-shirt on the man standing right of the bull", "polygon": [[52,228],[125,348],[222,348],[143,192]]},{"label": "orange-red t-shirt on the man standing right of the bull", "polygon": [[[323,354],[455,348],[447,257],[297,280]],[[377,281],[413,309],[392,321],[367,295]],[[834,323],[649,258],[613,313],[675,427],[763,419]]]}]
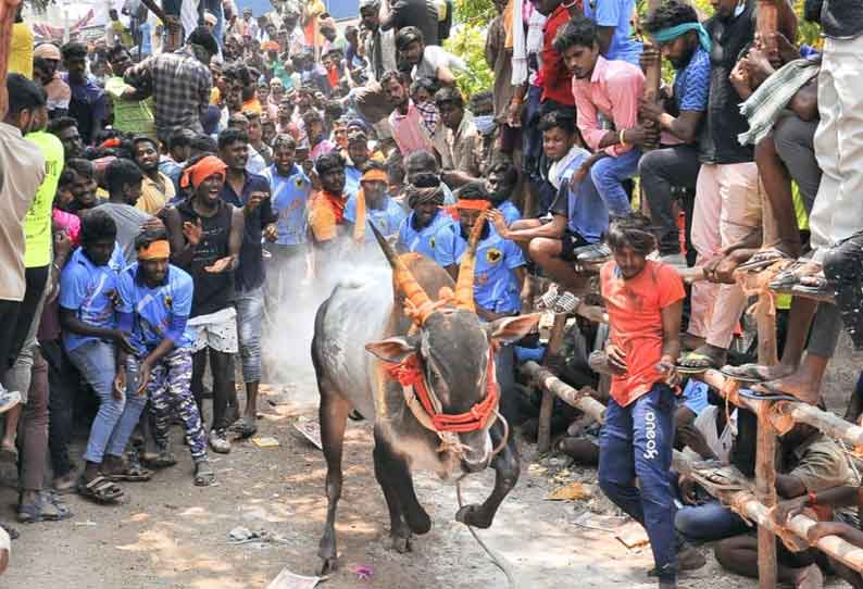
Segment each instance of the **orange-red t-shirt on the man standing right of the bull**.
[{"label": "orange-red t-shirt on the man standing right of the bull", "polygon": [[625,280],[617,263],[606,262],[600,287],[611,324],[611,342],[626,353],[627,372],[611,380],[611,396],[626,406],[650,391],[664,376],[655,366],[662,358],[662,310],[686,297],[677,272],[648,261],[641,273]]}]

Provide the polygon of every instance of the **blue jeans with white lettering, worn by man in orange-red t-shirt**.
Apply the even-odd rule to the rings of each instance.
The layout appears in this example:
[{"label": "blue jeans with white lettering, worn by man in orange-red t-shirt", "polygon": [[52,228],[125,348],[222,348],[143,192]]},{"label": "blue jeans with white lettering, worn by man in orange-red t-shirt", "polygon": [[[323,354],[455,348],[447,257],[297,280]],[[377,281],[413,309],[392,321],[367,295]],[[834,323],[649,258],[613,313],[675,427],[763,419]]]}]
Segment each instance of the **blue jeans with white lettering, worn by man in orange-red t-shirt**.
[{"label": "blue jeans with white lettering, worn by man in orange-red t-shirt", "polygon": [[599,436],[599,486],[645,526],[662,580],[674,580],[677,575],[674,490],[668,478],[674,408],[674,391],[662,383],[625,408],[611,399]]}]

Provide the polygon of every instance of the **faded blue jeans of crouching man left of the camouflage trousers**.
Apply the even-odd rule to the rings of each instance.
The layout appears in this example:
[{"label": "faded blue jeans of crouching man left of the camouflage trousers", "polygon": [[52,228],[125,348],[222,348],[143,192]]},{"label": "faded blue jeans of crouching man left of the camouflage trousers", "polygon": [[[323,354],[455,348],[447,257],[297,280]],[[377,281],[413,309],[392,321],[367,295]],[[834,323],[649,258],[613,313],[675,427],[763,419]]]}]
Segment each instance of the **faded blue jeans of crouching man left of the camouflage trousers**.
[{"label": "faded blue jeans of crouching man left of the camouflage trousers", "polygon": [[105,454],[122,456],[147,403],[147,396],[124,394],[123,399],[114,399],[116,360],[113,344],[90,340],[71,350],[68,356],[100,401],[84,460],[101,464]]}]

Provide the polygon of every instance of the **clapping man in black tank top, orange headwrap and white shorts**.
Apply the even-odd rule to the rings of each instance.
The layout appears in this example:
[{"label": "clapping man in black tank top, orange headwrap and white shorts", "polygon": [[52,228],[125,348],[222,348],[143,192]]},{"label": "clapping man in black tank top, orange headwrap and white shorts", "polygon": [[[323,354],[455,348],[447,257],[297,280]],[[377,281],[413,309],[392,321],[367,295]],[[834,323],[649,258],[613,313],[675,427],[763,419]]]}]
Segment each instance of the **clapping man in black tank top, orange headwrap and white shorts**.
[{"label": "clapping man in black tank top, orange headwrap and white shorts", "polygon": [[[224,202],[225,164],[214,155],[190,162],[180,186],[192,189],[188,199],[165,214],[171,262],[191,275],[195,294],[188,325],[197,331],[191,390],[203,419],[203,373],[209,352],[213,373],[213,422],[210,447],[227,453],[225,412],[233,392],[237,322],[234,309],[234,271],[242,245],[242,210]],[[236,392],[234,392],[236,394]]]}]

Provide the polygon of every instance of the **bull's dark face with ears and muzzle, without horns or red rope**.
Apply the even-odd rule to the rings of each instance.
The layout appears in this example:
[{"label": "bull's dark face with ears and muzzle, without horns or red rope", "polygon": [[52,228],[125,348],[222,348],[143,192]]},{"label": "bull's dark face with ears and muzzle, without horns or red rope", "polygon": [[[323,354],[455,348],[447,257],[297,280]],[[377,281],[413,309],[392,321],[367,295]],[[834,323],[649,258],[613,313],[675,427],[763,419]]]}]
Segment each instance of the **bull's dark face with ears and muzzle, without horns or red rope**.
[{"label": "bull's dark face with ears and muzzle, without horns or red rope", "polygon": [[[415,336],[393,337],[371,342],[366,349],[387,362],[400,363],[415,356],[422,368],[429,396],[440,402],[440,413],[467,413],[488,394],[493,375],[488,374],[489,359],[496,346],[524,337],[538,315],[504,317],[491,324],[460,309],[433,313]],[[481,471],[491,460],[492,444],[488,427],[458,434],[461,467],[468,473]]]}]

